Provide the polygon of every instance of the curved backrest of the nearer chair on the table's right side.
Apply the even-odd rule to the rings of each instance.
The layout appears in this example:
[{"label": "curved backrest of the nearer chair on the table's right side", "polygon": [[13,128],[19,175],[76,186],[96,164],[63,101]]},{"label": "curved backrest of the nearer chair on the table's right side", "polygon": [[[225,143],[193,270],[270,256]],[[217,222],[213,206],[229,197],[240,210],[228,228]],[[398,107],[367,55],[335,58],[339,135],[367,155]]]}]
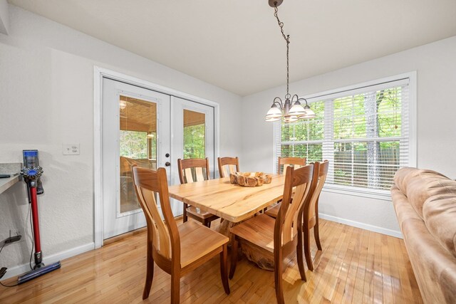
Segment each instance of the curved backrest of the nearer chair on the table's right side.
[{"label": "curved backrest of the nearer chair on the table's right side", "polygon": [[[284,196],[274,226],[274,248],[293,241],[301,229],[302,211],[311,188],[314,165],[286,168]],[[295,188],[293,199],[291,194]]]}]

